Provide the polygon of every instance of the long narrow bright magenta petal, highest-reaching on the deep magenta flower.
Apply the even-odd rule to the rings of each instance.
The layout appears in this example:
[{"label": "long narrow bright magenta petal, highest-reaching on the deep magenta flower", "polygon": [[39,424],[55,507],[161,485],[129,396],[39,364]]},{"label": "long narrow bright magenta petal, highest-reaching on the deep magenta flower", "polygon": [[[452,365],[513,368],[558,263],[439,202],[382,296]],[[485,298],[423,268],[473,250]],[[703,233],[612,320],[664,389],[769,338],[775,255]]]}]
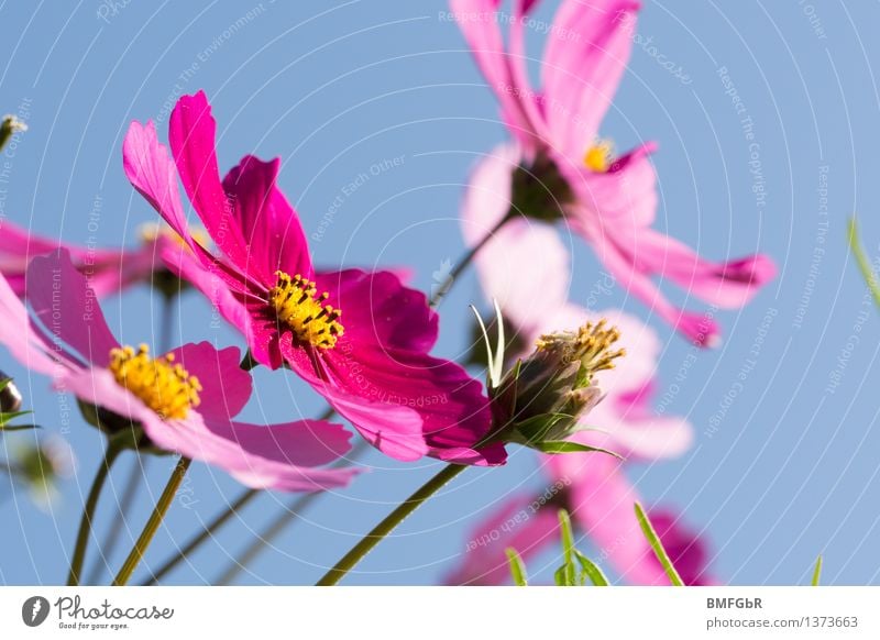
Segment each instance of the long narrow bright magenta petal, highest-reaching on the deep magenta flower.
[{"label": "long narrow bright magenta petal, highest-reaching on the deep magenta flower", "polygon": [[168,142],[180,181],[211,240],[232,264],[245,271],[248,249],[220,184],[216,133],[217,122],[204,91],[177,101],[168,122]]}]

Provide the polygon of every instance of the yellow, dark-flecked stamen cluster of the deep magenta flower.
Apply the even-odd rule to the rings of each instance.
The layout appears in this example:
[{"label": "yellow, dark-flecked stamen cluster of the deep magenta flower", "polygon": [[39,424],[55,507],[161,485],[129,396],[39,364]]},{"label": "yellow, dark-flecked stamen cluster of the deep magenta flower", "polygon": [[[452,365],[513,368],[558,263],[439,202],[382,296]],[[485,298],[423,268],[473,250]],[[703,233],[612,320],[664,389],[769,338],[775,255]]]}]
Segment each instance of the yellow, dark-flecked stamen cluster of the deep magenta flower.
[{"label": "yellow, dark-flecked stamen cluster of the deep magenta flower", "polygon": [[330,294],[318,295],[317,285],[300,275],[290,277],[284,272],[275,275],[278,279],[268,295],[278,320],[290,328],[300,343],[319,349],[336,346],[344,329],[339,322],[342,311],[323,305]]}]

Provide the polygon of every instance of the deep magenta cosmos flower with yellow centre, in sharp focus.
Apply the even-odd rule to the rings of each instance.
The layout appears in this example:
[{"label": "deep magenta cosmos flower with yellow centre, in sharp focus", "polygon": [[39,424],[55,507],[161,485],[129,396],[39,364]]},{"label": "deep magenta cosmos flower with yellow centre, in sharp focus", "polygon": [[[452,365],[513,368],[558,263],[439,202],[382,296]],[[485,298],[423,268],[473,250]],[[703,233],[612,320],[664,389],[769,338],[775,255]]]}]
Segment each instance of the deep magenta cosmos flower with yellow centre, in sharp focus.
[{"label": "deep magenta cosmos flower with yellow centre, in sharp focus", "polygon": [[[425,296],[389,272],[315,271],[276,186],[278,159],[245,156],[220,180],[204,92],[178,101],[169,128],[174,164],[152,123],[132,123],[125,174],[191,250],[166,251],[169,264],[245,335],[256,362],[289,366],[393,457],[504,463],[503,445],[479,446],[491,428],[480,383],[428,355],[438,318]],[[177,175],[218,255],[193,240]]]}]

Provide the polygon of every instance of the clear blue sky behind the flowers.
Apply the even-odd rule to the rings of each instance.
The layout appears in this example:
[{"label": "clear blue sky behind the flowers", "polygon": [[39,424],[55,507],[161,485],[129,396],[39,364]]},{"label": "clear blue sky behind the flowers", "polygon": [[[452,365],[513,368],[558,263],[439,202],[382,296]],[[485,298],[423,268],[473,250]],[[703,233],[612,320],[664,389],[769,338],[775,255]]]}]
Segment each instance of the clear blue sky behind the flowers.
[{"label": "clear blue sky behind the flowers", "polygon": [[[557,4],[546,1],[537,18],[549,20]],[[79,242],[89,239],[88,221],[97,216],[101,244],[135,243],[138,227],[155,214],[123,176],[125,129],[152,118],[165,139],[176,97],[204,88],[219,121],[221,168],[246,153],[282,156],[282,187],[307,233],[319,235],[311,243],[317,263],[407,265],[414,285],[428,289],[432,272],[462,252],[457,209],[469,168],[506,136],[494,97],[446,11],[435,0],[3,3],[0,110],[21,111],[30,131],[9,158],[2,212]],[[661,336],[659,395],[667,394],[668,413],[692,421],[695,445],[680,460],[632,467],[630,476],[649,503],[684,510],[686,523],[704,532],[713,574],[723,582],[805,583],[818,553],[827,583],[880,582],[880,313],[866,304],[846,249],[846,220],[858,212],[869,251],[880,254],[880,100],[872,74],[880,44],[870,35],[879,22],[877,2],[648,1],[638,33],[650,42],[634,51],[603,126],[622,148],[660,142],[659,228],[707,257],[761,251],[780,266],[750,306],[718,313],[724,342],[716,350],[694,350],[620,290],[600,305],[624,305]],[[539,31],[528,34],[536,56]],[[690,81],[652,54],[681,65]],[[723,75],[752,121],[762,197],[754,190],[749,142]],[[388,162],[397,166],[343,191]],[[817,190],[824,179],[826,195]],[[820,212],[823,197],[827,216]],[[601,267],[588,249],[573,245],[571,295],[584,302]],[[466,306],[481,299],[469,273],[442,308],[438,353],[463,355]],[[123,342],[156,341],[157,301],[144,288],[108,299],[105,309]],[[859,342],[850,352],[855,332]],[[231,330],[211,327],[210,309],[196,295],[183,300],[175,333],[175,343],[241,344]],[[754,368],[735,386],[760,339]],[[29,378],[6,355],[0,363],[18,377],[36,421],[59,431],[47,382]],[[829,387],[833,376],[836,387]],[[292,375],[257,371],[256,380],[258,394],[246,409],[252,420],[321,409]],[[726,401],[732,389],[736,397]],[[20,489],[0,487],[0,583],[66,576],[102,448],[102,438],[78,419],[67,431],[78,470],[51,512]],[[2,445],[28,438],[8,435]],[[318,500],[239,582],[314,583],[438,468],[435,461],[399,464],[375,452],[365,460],[371,473]],[[133,461],[130,454],[122,460],[102,496],[101,532]],[[172,464],[170,457],[148,462],[131,529],[109,559],[113,570]],[[470,470],[346,582],[437,582],[464,553],[470,521],[509,492],[544,482],[522,450],[504,468]],[[188,506],[172,510],[148,552],[151,566],[241,490],[198,464],[186,489]],[[260,497],[169,582],[216,580],[289,499]],[[96,556],[92,545],[87,566]]]}]

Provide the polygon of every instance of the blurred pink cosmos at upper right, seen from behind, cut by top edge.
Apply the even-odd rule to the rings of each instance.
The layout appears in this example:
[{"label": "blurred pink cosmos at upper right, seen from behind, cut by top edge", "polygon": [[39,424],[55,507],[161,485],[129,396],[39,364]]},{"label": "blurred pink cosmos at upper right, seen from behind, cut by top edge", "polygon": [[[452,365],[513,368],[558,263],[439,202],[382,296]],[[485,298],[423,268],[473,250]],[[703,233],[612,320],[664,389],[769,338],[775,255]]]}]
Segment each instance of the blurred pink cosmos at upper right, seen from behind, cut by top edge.
[{"label": "blurred pink cosmos at upper right, seen from behind, cut by top edge", "polygon": [[[651,229],[657,213],[653,143],[615,157],[600,139],[631,49],[632,0],[563,0],[549,30],[541,88],[528,79],[524,29],[536,0],[515,0],[510,20],[497,20],[501,0],[451,0],[483,75],[501,102],[515,143],[495,150],[474,172],[471,191],[501,200],[497,223],[513,211],[544,221],[564,218],[614,277],[690,340],[711,344],[711,318],[683,311],[657,288],[667,278],[719,308],[745,305],[776,274],[763,255],[711,262]],[[509,23],[507,46],[499,24]],[[471,200],[480,202],[480,195]],[[469,216],[473,202],[465,206]],[[476,214],[474,213],[473,217]],[[510,224],[525,224],[515,219]],[[492,225],[481,229],[482,235]],[[482,238],[482,236],[481,236]]]}]

